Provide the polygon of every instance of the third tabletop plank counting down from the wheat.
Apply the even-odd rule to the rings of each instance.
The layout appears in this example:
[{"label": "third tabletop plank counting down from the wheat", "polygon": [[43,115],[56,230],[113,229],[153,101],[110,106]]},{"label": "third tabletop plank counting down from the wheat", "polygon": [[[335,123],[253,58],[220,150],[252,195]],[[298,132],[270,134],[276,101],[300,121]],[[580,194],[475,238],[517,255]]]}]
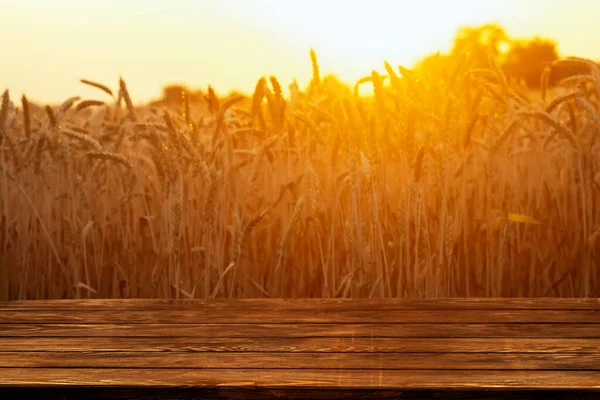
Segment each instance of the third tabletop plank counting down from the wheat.
[{"label": "third tabletop plank counting down from the wheat", "polygon": [[600,324],[0,324],[0,337],[600,338]]}]

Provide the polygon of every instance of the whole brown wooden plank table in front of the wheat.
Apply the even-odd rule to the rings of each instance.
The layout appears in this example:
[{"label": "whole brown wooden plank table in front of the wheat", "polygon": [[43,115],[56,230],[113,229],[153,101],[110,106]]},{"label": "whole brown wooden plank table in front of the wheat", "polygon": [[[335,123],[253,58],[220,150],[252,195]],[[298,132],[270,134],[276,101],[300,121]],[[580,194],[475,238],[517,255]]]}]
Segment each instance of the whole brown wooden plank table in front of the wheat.
[{"label": "whole brown wooden plank table in front of the wheat", "polygon": [[600,299],[0,303],[0,399],[600,399]]}]

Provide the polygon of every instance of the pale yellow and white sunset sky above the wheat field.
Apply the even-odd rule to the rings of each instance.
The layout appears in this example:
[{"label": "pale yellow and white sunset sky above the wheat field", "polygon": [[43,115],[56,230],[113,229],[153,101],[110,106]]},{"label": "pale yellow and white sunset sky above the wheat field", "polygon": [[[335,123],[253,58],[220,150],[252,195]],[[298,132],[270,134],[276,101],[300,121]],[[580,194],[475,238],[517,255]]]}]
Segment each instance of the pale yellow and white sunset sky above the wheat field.
[{"label": "pale yellow and white sunset sky above the wheat field", "polygon": [[0,90],[102,100],[79,79],[116,91],[122,76],[143,103],[169,83],[251,93],[275,75],[303,86],[310,48],[322,74],[353,84],[384,60],[410,67],[448,51],[458,27],[490,22],[600,60],[599,0],[0,0]]}]

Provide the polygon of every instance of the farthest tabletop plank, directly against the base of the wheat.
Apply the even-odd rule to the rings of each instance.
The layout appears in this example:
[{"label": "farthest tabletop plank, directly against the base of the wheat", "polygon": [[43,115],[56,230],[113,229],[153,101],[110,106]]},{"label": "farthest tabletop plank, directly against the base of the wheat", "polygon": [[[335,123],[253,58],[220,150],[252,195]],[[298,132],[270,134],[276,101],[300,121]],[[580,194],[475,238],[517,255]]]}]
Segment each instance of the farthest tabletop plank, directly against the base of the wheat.
[{"label": "farthest tabletop plank, directly against the base of the wheat", "polygon": [[597,298],[365,298],[365,299],[78,299],[0,302],[3,310],[188,310],[193,308],[324,312],[396,310],[600,310]]}]

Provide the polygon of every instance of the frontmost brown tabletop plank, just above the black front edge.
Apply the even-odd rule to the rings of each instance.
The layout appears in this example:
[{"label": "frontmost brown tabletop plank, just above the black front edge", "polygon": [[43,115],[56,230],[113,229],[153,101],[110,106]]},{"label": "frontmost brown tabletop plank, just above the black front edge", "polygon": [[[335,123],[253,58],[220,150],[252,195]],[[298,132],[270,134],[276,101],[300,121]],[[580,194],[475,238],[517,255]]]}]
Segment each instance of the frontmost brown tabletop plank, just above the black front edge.
[{"label": "frontmost brown tabletop plank, just above the black front edge", "polygon": [[0,387],[600,389],[600,371],[6,368],[1,372]]}]

